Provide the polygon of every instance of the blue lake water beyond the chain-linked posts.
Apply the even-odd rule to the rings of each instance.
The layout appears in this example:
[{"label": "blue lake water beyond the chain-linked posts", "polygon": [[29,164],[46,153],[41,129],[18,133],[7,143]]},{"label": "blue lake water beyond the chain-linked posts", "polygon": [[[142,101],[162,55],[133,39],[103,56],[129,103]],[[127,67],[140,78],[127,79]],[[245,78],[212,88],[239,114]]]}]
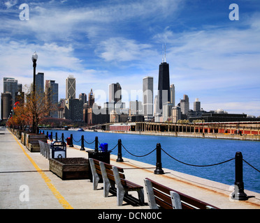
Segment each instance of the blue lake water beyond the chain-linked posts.
[{"label": "blue lake water beyond the chain-linked posts", "polygon": [[[73,134],[73,139],[78,141],[82,134],[88,142],[94,141],[95,137],[99,137],[100,143],[108,143],[108,150],[111,150],[117,145],[118,139],[122,140],[122,145],[127,148],[127,151],[133,155],[145,155],[156,148],[157,143],[161,144],[161,148],[169,155],[177,160],[188,164],[208,165],[224,162],[235,157],[236,152],[240,151],[243,154],[243,159],[250,163],[253,167],[260,170],[260,142],[259,141],[240,141],[228,139],[201,139],[201,138],[185,138],[185,137],[162,137],[139,134],[117,134],[105,132],[78,132],[78,131],[61,131],[49,130],[55,137],[57,132],[58,137],[70,137]],[[46,132],[45,132],[46,133]],[[81,145],[80,142],[73,144]],[[85,147],[93,148],[94,144],[85,143]],[[122,157],[156,164],[156,151],[145,157],[136,157],[128,153],[122,147]],[[173,160],[172,157],[161,152],[162,167],[173,169],[185,174],[207,178],[227,185],[233,185],[235,181],[235,160],[225,162],[213,167],[192,167],[187,164],[182,164]],[[112,154],[117,155],[117,147],[112,151]],[[243,162],[243,181],[245,190],[252,190],[260,193],[260,173],[253,169],[248,164]]]}]

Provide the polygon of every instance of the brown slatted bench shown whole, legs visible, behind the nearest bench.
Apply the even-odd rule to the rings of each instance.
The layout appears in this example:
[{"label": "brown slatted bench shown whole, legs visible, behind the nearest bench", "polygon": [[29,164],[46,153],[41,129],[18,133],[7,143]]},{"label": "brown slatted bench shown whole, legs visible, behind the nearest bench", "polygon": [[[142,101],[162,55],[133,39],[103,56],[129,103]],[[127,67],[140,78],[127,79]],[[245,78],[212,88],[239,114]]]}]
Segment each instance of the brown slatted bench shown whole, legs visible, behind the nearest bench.
[{"label": "brown slatted bench shown whole, legs visible, behind the nearest bench", "polygon": [[121,167],[115,167],[105,162],[94,160],[92,158],[89,158],[89,163],[93,169],[92,176],[94,190],[96,190],[97,188],[99,176],[101,174],[103,178],[104,197],[108,197],[110,189],[116,190],[117,206],[122,206],[124,196],[127,195],[129,191],[138,192],[139,203],[144,203],[143,186],[126,180],[123,174],[124,169],[122,169]]}]

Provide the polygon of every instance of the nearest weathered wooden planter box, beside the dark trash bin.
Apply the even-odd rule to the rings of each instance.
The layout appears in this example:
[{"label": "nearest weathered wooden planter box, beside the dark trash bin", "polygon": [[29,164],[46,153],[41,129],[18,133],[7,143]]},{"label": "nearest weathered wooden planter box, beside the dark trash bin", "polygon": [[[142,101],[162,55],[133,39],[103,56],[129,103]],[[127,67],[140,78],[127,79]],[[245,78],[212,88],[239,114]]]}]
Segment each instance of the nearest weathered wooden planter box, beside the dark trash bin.
[{"label": "nearest weathered wooden planter box, beside the dark trash bin", "polygon": [[83,157],[50,159],[50,171],[62,180],[89,179],[89,169]]}]

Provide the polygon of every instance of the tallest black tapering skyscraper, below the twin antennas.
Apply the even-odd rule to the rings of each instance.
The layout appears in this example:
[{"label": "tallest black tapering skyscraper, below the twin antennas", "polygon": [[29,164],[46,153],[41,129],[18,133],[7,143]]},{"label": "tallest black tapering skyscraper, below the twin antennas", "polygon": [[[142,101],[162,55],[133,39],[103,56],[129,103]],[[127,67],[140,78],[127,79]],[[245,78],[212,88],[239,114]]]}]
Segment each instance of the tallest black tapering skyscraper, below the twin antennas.
[{"label": "tallest black tapering skyscraper, below the twin antennas", "polygon": [[159,65],[158,94],[161,110],[165,102],[171,101],[169,64],[166,60]]}]

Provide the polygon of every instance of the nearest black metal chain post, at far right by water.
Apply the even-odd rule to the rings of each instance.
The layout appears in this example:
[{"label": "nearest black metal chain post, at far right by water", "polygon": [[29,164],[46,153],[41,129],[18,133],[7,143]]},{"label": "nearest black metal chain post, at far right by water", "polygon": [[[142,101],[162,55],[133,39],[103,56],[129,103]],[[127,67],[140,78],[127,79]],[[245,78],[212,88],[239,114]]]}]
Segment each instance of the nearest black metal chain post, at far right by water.
[{"label": "nearest black metal chain post, at far right by water", "polygon": [[245,201],[248,199],[248,197],[247,194],[245,194],[244,192],[243,155],[241,152],[236,152],[235,163],[236,163],[236,181],[235,181],[235,190],[232,193],[232,199],[238,201]]}]

